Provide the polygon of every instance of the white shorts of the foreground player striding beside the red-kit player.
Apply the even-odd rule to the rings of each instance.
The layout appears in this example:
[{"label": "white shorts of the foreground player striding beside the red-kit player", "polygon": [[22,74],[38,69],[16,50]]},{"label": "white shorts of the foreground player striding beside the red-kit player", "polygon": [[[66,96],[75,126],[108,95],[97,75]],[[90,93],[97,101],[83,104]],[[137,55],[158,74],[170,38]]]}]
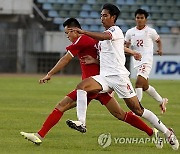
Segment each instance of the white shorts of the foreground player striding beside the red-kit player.
[{"label": "white shorts of the foreground player striding beside the red-kit player", "polygon": [[119,98],[131,98],[136,96],[129,76],[127,75],[111,75],[106,77],[96,75],[92,78],[102,86],[102,92],[109,92],[114,90]]}]

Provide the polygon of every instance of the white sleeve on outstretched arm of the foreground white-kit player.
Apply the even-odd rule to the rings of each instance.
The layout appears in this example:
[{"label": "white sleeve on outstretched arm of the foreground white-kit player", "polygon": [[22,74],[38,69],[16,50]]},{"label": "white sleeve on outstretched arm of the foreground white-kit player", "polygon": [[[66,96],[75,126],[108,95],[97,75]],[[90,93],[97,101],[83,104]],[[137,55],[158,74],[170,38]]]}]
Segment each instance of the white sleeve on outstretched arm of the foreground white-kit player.
[{"label": "white sleeve on outstretched arm of the foreground white-kit player", "polygon": [[108,32],[111,35],[112,40],[124,39],[124,35],[122,33],[122,30],[118,26],[110,27],[105,32]]}]

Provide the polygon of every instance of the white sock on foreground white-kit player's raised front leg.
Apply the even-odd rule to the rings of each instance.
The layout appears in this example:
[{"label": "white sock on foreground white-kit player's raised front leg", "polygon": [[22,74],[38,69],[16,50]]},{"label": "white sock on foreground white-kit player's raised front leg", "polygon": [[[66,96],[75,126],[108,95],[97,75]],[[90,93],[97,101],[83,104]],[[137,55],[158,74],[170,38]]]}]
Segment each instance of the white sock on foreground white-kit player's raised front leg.
[{"label": "white sock on foreground white-kit player's raised front leg", "polygon": [[84,125],[86,124],[87,111],[87,92],[84,90],[77,90],[77,117]]}]

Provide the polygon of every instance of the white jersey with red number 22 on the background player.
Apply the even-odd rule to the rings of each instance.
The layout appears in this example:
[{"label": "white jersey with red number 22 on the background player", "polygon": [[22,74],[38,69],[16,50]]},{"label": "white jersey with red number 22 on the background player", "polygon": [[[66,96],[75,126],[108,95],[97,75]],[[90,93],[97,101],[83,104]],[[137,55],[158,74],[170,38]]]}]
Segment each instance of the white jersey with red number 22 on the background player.
[{"label": "white jersey with red number 22 on the background player", "polygon": [[138,30],[136,27],[129,29],[125,35],[125,41],[131,43],[131,49],[139,52],[142,55],[141,61],[135,60],[134,67],[144,63],[153,63],[153,43],[159,39],[156,30],[145,26]]}]

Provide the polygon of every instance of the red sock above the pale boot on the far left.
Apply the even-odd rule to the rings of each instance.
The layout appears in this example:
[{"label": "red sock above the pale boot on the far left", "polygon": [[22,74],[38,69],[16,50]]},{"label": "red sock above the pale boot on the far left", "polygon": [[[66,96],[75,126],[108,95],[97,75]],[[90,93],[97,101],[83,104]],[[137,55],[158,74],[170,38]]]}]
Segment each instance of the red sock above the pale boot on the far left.
[{"label": "red sock above the pale boot on the far left", "polygon": [[47,117],[46,121],[44,122],[42,128],[38,131],[38,134],[43,138],[48,131],[58,123],[58,121],[63,116],[63,112],[55,108],[53,112]]}]

